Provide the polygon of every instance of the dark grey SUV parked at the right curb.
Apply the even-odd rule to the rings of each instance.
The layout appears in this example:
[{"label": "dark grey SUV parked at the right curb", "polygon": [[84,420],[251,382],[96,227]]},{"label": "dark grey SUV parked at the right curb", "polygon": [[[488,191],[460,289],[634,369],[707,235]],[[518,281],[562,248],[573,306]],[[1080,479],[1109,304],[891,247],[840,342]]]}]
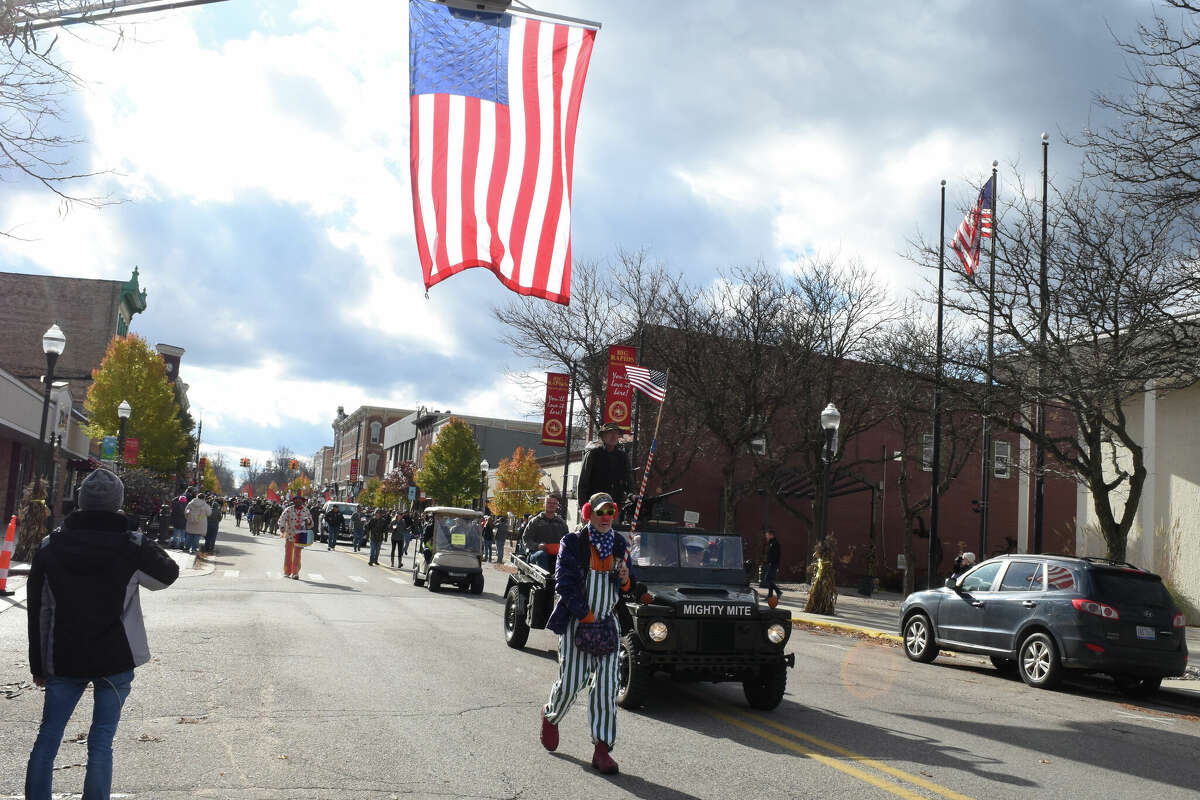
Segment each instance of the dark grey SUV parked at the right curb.
[{"label": "dark grey SUV parked at the right curb", "polygon": [[1145,697],[1188,663],[1187,620],[1162,578],[1123,561],[1013,554],[989,559],[900,609],[905,654],[991,656],[1030,686],[1050,688],[1066,669],[1108,673]]}]

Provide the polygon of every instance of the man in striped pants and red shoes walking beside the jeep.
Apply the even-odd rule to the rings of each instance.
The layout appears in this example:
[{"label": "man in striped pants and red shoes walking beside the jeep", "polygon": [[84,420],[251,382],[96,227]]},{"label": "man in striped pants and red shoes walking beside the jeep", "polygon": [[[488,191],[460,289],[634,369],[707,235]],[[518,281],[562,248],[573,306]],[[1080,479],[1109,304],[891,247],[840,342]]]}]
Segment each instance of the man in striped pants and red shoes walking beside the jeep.
[{"label": "man in striped pants and red shoes walking beside the jeep", "polygon": [[[558,680],[541,709],[541,744],[558,747],[558,723],[590,685],[588,727],[592,766],[618,771],[610,751],[617,741],[617,619],[620,593],[632,588],[625,539],[613,533],[617,504],[605,493],[583,506],[587,524],[563,537],[554,567],[558,601],[546,627],[558,633]],[[598,630],[598,627],[600,630]]]}]

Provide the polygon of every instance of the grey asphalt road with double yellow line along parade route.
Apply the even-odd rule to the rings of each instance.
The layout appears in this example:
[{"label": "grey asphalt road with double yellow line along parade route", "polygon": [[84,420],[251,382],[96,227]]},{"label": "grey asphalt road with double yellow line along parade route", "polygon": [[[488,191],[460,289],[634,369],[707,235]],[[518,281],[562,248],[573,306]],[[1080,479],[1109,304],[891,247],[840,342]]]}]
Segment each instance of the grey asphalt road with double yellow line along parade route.
[{"label": "grey asphalt road with double yellow line along parade route", "polygon": [[[115,742],[114,796],[1194,798],[1200,708],[1132,704],[1102,679],[1030,690],[973,657],[796,631],[787,697],[751,712],[736,685],[664,682],[619,715],[622,774],[596,775],[581,702],[538,742],[556,638],[502,638],[506,575],[482,596],[317,545],[302,581],[282,545],[222,530],[211,570],[143,593],[154,660]],[[386,563],[386,555],[384,557]],[[0,608],[8,608],[0,606]],[[41,693],[25,614],[0,610],[0,798],[22,793]],[[56,762],[79,792],[85,696]],[[66,795],[71,796],[71,795]]]}]

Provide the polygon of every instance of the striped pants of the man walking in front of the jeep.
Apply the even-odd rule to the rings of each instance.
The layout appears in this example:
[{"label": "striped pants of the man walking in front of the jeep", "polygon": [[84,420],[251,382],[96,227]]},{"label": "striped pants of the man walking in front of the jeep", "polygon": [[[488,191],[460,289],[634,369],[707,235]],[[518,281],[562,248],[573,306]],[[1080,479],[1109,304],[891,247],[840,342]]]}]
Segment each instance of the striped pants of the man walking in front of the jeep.
[{"label": "striped pants of the man walking in front of the jeep", "polygon": [[553,724],[566,716],[576,696],[589,685],[588,727],[592,741],[602,741],[612,750],[617,744],[617,654],[594,656],[575,648],[575,626],[558,637],[558,680],[550,690],[546,720]]}]

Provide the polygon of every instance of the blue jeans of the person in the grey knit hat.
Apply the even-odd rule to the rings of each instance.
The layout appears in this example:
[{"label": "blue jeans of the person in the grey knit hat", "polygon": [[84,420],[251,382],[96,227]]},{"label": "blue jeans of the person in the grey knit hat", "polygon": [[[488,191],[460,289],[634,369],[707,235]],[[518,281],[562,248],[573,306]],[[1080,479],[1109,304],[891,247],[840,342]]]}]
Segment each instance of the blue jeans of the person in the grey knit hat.
[{"label": "blue jeans of the person in the grey knit hat", "polygon": [[113,787],[113,736],[121,720],[121,706],[130,696],[133,670],[107,678],[47,678],[46,702],[42,705],[42,727],[37,732],[34,751],[25,769],[25,796],[29,800],[50,800],[54,757],[59,742],[83,690],[94,687],[91,728],[88,730],[88,771],[83,778],[84,800],[107,800]]}]

